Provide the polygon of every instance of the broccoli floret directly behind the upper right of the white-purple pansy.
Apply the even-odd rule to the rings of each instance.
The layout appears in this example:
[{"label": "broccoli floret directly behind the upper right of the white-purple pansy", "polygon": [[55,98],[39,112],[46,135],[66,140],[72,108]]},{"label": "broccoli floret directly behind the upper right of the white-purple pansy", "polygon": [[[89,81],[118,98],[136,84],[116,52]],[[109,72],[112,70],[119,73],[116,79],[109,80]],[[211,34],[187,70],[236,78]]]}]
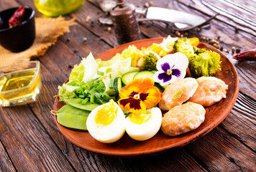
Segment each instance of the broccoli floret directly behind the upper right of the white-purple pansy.
[{"label": "broccoli floret directly behind the upper right of the white-purple pansy", "polygon": [[179,38],[175,41],[173,45],[173,51],[185,54],[188,59],[191,59],[195,56],[193,46],[191,45],[189,39],[186,37]]}]

